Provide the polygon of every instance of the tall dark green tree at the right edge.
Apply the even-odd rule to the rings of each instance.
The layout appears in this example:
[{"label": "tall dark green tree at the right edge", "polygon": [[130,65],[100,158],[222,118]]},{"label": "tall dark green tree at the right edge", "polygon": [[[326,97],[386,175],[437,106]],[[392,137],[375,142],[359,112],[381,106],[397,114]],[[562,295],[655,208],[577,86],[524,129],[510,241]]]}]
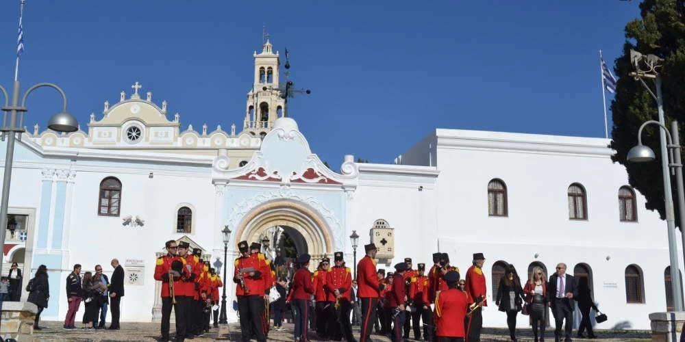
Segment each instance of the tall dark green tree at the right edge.
[{"label": "tall dark green tree at the right edge", "polygon": [[[678,120],[682,137],[682,124],[685,124],[685,3],[682,0],[644,0],[640,3],[640,16],[625,25],[623,56],[615,61],[619,80],[611,104],[614,127],[610,147],[616,150],[612,160],[625,166],[630,185],[647,198],[647,209],[656,209],[664,219],[658,127],[650,126],[643,131],[643,144],[654,150],[657,161],[636,164],[625,160],[628,150],[637,144],[640,124],[647,120],[658,120],[656,101],[640,81],[628,75],[634,71],[634,66],[630,64],[630,49],[664,58],[663,66],[658,70],[663,80],[667,127],[670,129],[671,120]],[[653,89],[652,82],[647,81],[647,85]],[[677,221],[676,215],[676,224],[680,226]]]}]

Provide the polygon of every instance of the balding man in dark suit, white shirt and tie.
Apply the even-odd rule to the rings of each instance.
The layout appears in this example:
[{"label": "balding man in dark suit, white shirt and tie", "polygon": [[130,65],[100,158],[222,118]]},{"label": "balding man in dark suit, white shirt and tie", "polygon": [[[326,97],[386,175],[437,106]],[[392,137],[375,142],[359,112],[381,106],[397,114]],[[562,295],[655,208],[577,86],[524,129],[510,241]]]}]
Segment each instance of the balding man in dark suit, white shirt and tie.
[{"label": "balding man in dark suit, white shirt and tie", "polygon": [[547,283],[547,302],[552,308],[554,323],[554,341],[561,341],[561,326],[566,319],[566,336],[564,341],[571,341],[571,330],[573,330],[573,309],[575,308],[575,298],[578,295],[578,286],[575,278],[566,274],[566,264],[559,263],[556,273],[549,276]]}]

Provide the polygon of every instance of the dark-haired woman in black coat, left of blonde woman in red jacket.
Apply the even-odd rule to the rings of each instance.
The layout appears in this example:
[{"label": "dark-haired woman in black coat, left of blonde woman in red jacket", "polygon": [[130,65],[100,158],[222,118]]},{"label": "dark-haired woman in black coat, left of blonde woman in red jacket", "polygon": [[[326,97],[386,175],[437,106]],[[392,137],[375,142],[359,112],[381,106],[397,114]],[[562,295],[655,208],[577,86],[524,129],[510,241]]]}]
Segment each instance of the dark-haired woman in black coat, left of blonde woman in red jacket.
[{"label": "dark-haired woman in black coat, left of blonde woman in red jacket", "polygon": [[507,326],[509,326],[509,334],[512,341],[516,341],[516,315],[521,311],[521,304],[523,304],[523,288],[521,287],[521,279],[516,273],[514,265],[507,265],[504,269],[504,276],[499,280],[499,289],[497,289],[497,301],[499,311],[507,313]]}]

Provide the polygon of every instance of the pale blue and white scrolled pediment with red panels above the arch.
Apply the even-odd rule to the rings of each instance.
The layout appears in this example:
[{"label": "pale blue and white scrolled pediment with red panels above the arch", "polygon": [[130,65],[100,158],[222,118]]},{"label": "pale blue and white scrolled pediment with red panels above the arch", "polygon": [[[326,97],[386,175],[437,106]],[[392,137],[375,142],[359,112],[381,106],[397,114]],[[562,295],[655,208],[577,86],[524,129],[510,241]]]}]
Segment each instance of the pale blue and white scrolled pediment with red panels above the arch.
[{"label": "pale blue and white scrolled pediment with red panels above the arch", "polygon": [[295,120],[279,118],[264,137],[260,150],[245,166],[230,170],[229,157],[220,155],[214,159],[212,172],[215,180],[344,185],[347,188],[356,185],[358,174],[350,157],[345,158],[340,174],[333,172],[312,153]]}]

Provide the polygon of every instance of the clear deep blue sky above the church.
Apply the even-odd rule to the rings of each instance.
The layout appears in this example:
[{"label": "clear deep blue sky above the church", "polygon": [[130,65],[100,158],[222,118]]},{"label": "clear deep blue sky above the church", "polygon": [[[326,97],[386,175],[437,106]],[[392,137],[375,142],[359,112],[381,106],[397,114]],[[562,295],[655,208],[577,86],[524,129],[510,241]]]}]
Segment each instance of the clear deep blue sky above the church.
[{"label": "clear deep blue sky above the church", "polygon": [[[0,4],[8,90],[18,3]],[[612,66],[638,16],[619,0],[27,0],[19,79],[61,86],[84,129],[135,81],[183,129],[241,127],[267,25],[295,86],[312,90],[288,114],[314,153],[333,168],[346,154],[390,163],[436,128],[603,137],[597,51]],[[27,126],[60,106],[32,93]]]}]

